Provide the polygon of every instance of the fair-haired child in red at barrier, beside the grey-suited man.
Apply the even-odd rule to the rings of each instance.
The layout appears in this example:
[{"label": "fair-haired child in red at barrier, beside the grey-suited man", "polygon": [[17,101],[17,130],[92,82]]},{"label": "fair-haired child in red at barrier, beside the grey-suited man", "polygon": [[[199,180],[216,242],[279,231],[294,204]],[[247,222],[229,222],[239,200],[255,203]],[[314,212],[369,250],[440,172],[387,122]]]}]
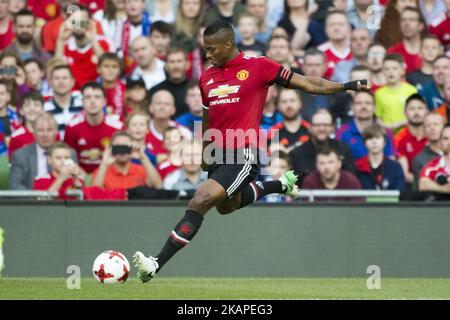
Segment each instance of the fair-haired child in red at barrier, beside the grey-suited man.
[{"label": "fair-haired child in red at barrier, beside the grey-suited man", "polygon": [[58,192],[59,198],[70,199],[66,192],[71,189],[80,189],[84,185],[83,171],[72,160],[71,149],[67,144],[55,142],[47,152],[51,172],[36,177],[33,190]]}]

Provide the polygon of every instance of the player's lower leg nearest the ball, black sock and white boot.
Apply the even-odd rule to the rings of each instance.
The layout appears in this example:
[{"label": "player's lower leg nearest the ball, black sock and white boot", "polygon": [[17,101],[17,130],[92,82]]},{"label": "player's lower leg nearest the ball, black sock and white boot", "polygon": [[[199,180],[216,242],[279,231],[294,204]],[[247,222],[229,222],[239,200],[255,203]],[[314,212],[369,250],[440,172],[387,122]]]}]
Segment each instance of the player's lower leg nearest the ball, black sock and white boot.
[{"label": "player's lower leg nearest the ball, black sock and white boot", "polygon": [[203,216],[226,197],[225,189],[217,181],[208,179],[201,184],[189,201],[184,217],[170,233],[161,252],[156,257],[147,258],[139,251],[133,256],[141,281],[150,281],[175,253],[184,248],[200,229]]}]

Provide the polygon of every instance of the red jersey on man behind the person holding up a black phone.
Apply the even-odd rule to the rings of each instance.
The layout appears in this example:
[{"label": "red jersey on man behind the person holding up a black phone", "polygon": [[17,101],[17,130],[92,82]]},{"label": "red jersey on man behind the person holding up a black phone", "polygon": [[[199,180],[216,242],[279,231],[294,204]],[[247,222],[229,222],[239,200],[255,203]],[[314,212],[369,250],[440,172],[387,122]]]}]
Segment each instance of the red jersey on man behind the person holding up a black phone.
[{"label": "red jersey on man behind the person holding up a black phone", "polygon": [[105,117],[98,126],[91,126],[84,115],[76,117],[66,127],[64,142],[77,152],[80,167],[94,172],[102,162],[103,151],[109,147],[114,132],[123,128],[117,117]]}]

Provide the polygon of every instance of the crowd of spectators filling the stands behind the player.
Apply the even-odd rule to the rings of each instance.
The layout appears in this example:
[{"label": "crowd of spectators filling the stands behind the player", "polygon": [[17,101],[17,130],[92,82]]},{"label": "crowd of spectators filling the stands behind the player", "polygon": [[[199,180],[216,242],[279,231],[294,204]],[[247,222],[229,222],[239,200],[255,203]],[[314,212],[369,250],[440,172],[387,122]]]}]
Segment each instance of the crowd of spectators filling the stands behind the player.
[{"label": "crowd of spectators filling the stands behind the player", "polygon": [[270,87],[260,180],[292,168],[304,189],[450,195],[450,0],[0,0],[9,189],[192,195],[202,33],[218,19],[246,55],[371,88]]}]

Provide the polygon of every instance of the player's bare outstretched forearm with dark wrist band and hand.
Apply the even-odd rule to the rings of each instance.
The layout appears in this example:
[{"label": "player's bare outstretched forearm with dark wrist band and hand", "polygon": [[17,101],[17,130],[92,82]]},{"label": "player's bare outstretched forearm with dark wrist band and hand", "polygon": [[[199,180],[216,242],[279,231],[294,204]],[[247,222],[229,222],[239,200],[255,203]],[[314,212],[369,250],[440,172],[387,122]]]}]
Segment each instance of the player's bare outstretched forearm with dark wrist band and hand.
[{"label": "player's bare outstretched forearm with dark wrist band and hand", "polygon": [[289,84],[289,88],[300,89],[311,94],[333,94],[345,90],[369,90],[367,80],[350,81],[347,83],[338,83],[319,77],[302,76],[294,73]]}]

